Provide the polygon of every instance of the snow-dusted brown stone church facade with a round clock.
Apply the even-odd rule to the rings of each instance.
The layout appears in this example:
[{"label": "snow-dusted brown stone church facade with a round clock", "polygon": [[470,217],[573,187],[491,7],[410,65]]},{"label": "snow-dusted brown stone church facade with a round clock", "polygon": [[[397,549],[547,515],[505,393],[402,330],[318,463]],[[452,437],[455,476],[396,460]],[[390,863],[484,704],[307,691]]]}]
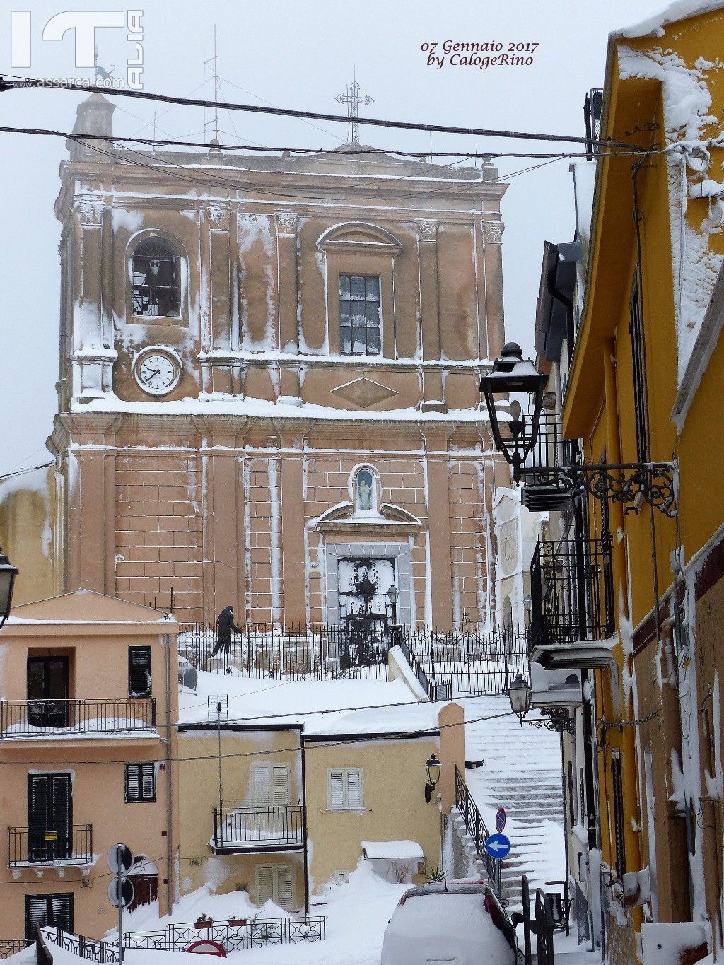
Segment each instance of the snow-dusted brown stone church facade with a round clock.
[{"label": "snow-dusted brown stone church facade with a round clock", "polygon": [[[495,169],[69,142],[59,589],[213,620],[492,620]],[[499,479],[494,480],[495,473]]]}]

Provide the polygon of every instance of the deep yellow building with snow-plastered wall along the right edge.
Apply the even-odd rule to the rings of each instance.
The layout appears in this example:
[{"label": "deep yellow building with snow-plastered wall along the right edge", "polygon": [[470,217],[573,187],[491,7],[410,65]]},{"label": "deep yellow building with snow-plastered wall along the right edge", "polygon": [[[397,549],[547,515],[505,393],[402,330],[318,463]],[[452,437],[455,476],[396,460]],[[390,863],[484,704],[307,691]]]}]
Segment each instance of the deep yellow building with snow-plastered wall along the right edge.
[{"label": "deep yellow building with snow-plastered wall along the right edge", "polygon": [[[589,537],[611,538],[616,614],[614,663],[595,672],[615,963],[656,961],[651,923],[677,923],[684,947],[722,957],[724,6],[700,11],[610,38],[611,145],[563,400],[564,434],[587,462],[669,463],[676,490],[668,504],[651,490],[589,499]],[[614,487],[632,475],[614,471]]]}]

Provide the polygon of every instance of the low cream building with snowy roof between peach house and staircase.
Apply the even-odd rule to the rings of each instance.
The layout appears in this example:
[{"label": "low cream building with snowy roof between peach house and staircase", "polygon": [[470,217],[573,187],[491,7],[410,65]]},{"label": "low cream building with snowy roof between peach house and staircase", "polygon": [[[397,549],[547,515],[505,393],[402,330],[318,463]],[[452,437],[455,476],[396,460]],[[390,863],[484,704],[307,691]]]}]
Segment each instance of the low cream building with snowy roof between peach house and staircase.
[{"label": "low cream building with snowy roof between peach house and staircase", "polygon": [[[390,700],[400,700],[399,685]],[[376,872],[392,880],[422,883],[443,866],[443,815],[455,805],[456,766],[464,769],[461,707],[324,706],[281,723],[235,721],[226,703],[221,720],[213,707],[208,721],[181,719],[182,894],[208,883],[301,912],[368,857],[367,844],[377,845]],[[433,754],[442,767],[428,802]]]}]

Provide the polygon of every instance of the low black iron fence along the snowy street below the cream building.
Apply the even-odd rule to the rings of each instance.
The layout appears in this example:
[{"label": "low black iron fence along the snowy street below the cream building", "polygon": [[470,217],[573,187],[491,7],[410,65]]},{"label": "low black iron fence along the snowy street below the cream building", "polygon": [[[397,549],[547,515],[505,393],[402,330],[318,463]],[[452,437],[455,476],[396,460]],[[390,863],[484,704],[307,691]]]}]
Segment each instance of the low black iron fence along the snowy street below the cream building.
[{"label": "low black iron fence along the snowy street below the cream building", "polygon": [[[233,920],[235,921],[235,920]],[[187,951],[198,941],[216,942],[224,951],[246,951],[265,945],[299,945],[302,942],[326,940],[326,917],[306,915],[303,918],[249,918],[240,924],[168,924],[156,931],[125,931],[124,949],[155,951]],[[84,935],[70,935],[60,928],[44,927],[42,933],[50,942],[81,958],[94,962],[117,962],[115,943],[96,941]]]}]

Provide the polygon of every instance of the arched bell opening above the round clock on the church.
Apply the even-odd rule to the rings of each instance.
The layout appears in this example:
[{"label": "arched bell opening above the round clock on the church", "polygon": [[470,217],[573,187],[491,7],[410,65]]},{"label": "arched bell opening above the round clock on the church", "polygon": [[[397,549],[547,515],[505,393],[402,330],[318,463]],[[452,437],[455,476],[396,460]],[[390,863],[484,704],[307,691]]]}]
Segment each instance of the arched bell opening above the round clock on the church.
[{"label": "arched bell opening above the round clock on the church", "polygon": [[133,315],[181,317],[181,255],[162,237],[148,237],[131,259]]}]

